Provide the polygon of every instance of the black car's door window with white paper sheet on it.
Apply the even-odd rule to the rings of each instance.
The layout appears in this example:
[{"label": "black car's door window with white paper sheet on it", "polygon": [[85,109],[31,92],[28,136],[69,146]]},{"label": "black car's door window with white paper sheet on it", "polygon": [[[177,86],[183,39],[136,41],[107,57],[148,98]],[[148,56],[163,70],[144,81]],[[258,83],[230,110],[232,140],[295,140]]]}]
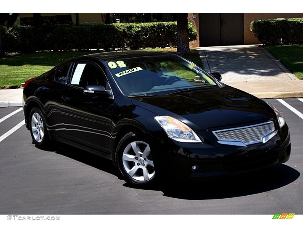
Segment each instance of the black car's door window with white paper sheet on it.
[{"label": "black car's door window with white paper sheet on it", "polygon": [[87,85],[106,86],[106,79],[95,64],[75,63],[69,84],[81,88],[85,88]]}]

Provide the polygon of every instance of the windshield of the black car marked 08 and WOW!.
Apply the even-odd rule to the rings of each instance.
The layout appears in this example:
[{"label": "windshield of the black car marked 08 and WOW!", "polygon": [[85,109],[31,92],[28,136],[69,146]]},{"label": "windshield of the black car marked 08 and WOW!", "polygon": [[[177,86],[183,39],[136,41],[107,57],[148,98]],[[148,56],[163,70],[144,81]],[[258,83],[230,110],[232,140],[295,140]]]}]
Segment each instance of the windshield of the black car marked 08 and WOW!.
[{"label": "windshield of the black car marked 08 and WOW!", "polygon": [[217,87],[204,71],[178,57],[115,59],[105,64],[127,96],[163,95],[178,90]]}]

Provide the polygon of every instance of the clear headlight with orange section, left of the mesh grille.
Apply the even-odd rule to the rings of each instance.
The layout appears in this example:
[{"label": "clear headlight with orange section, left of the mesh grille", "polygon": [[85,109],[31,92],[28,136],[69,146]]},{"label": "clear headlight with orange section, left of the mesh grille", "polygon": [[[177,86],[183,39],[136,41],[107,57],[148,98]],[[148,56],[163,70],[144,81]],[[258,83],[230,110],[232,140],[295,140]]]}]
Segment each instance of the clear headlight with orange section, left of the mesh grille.
[{"label": "clear headlight with orange section, left of the mesh grille", "polygon": [[171,139],[186,143],[201,143],[197,134],[185,123],[169,116],[157,116],[155,120]]}]

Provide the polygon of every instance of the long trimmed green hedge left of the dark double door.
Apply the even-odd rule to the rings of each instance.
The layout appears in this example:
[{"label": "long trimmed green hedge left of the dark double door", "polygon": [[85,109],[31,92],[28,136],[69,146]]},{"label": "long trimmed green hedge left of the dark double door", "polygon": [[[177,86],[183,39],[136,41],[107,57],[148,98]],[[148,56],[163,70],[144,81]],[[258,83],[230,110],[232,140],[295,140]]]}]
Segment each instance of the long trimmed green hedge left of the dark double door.
[{"label": "long trimmed green hedge left of the dark double door", "polygon": [[[188,24],[189,41],[197,32]],[[3,50],[29,53],[42,50],[140,49],[176,46],[177,23],[117,23],[2,27]]]}]

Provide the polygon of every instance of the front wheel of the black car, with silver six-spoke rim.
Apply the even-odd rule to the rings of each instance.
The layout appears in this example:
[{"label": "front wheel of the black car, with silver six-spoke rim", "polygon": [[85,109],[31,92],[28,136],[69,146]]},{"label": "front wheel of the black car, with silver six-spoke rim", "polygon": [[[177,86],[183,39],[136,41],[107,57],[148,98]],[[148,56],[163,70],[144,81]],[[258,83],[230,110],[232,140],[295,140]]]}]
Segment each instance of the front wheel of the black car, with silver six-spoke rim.
[{"label": "front wheel of the black car, with silver six-spoke rim", "polygon": [[150,146],[135,133],[127,133],[118,143],[117,166],[128,183],[149,185],[155,181]]}]

